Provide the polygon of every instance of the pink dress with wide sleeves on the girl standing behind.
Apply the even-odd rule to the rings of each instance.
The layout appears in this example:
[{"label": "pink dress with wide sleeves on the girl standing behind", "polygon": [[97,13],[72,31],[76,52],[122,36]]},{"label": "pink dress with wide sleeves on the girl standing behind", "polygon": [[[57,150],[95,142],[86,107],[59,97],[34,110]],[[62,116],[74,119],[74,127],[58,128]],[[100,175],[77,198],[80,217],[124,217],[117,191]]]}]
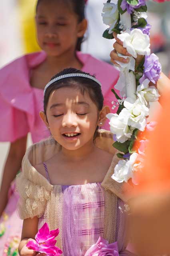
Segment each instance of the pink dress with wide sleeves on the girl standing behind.
[{"label": "pink dress with wide sleeves on the girl standing behind", "polygon": [[[83,64],[82,70],[96,75],[102,83],[104,104],[111,109],[111,102],[116,100],[111,88],[118,80],[118,71],[89,54],[77,52],[77,56]],[[43,110],[43,90],[30,85],[31,70],[45,58],[45,52],[28,54],[0,70],[0,141],[14,142],[26,136],[28,132],[31,133],[33,143],[49,136],[46,126],[39,118],[39,112]],[[109,129],[108,122],[104,128]],[[12,255],[21,234],[22,221],[16,213],[17,201],[18,195],[12,191],[4,214],[0,218],[0,255]],[[13,249],[11,254],[8,254],[10,243]]]}]

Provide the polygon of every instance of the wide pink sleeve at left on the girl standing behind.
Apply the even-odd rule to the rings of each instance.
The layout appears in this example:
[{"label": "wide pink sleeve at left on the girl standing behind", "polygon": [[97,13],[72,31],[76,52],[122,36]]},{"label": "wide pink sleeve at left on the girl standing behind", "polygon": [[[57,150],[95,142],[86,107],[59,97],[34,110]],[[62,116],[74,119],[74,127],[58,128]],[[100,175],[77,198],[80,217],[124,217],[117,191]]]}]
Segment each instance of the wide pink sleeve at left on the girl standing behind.
[{"label": "wide pink sleeve at left on the girl standing behind", "polygon": [[29,132],[31,104],[28,66],[23,56],[0,70],[0,141],[14,142]]}]

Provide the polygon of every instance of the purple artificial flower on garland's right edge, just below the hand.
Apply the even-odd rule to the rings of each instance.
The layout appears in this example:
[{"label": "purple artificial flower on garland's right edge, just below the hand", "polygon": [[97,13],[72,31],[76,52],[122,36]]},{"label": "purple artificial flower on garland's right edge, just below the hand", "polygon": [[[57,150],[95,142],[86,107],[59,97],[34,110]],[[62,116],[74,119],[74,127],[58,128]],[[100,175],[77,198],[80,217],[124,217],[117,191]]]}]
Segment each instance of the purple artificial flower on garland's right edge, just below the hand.
[{"label": "purple artificial flower on garland's right edge, just below the hand", "polygon": [[142,82],[148,78],[152,83],[156,84],[158,79],[160,78],[161,73],[161,64],[159,62],[158,57],[152,53],[149,56],[145,56],[144,61],[144,74],[140,78],[139,82]]}]

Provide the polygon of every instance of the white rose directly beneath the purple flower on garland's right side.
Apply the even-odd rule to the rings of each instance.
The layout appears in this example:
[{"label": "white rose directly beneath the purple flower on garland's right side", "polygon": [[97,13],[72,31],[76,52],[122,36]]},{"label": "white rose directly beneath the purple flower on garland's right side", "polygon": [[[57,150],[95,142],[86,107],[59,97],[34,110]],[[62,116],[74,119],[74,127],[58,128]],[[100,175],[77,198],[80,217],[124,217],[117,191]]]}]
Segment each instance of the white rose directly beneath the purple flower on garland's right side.
[{"label": "white rose directly beneath the purple flower on garland's right side", "polygon": [[137,96],[144,101],[146,106],[148,102],[158,101],[160,95],[155,86],[149,86],[150,80],[145,79],[142,84],[137,87]]}]

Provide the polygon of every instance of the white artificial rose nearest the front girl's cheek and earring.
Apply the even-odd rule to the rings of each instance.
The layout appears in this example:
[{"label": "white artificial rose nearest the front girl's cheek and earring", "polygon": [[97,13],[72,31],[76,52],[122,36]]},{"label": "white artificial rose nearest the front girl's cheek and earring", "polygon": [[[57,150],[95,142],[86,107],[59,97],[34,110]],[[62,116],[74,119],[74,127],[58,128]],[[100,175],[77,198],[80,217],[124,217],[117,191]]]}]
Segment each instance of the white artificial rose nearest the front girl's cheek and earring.
[{"label": "white artificial rose nearest the front girl's cheek and earring", "polygon": [[106,117],[110,120],[110,131],[116,135],[118,142],[125,142],[132,136],[133,130],[129,126],[118,120],[118,114],[107,114]]}]

